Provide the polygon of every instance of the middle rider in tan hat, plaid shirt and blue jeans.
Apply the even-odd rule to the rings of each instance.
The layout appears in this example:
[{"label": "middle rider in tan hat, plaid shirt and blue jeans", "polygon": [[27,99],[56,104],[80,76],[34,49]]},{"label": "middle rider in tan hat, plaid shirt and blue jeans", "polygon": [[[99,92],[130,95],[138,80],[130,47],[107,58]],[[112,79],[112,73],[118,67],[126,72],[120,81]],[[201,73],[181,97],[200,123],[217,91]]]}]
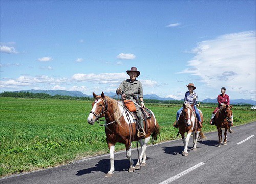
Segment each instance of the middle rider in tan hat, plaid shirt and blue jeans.
[{"label": "middle rider in tan hat, plaid shirt and blue jeans", "polygon": [[[196,113],[197,120],[199,122],[199,126],[202,127],[201,117],[200,117],[200,114],[199,114],[197,106],[196,106],[197,105],[197,93],[194,91],[196,89],[196,87],[194,86],[193,83],[189,83],[187,85],[187,88],[188,88],[188,91],[185,94],[185,98],[184,98],[185,102],[184,103],[189,103],[190,105],[194,104],[195,113]],[[174,125],[173,125],[175,128],[178,128],[177,121],[180,117],[180,112],[182,111],[182,109],[183,109],[183,107],[181,107],[177,111],[176,121],[174,122]]]}]

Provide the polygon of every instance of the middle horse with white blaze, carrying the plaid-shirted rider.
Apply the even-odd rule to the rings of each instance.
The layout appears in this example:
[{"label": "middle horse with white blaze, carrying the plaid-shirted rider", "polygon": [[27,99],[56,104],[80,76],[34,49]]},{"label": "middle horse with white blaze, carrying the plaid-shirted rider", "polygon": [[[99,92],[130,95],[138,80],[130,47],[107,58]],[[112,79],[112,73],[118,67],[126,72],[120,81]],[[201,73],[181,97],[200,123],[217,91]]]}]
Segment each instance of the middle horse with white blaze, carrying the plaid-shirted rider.
[{"label": "middle horse with white blaze, carrying the plaid-shirted rider", "polygon": [[[193,106],[193,105],[192,105]],[[188,156],[188,142],[190,139],[191,134],[193,135],[193,149],[194,151],[197,150],[197,139],[199,137],[200,140],[205,139],[205,135],[201,131],[201,128],[197,126],[197,118],[196,113],[193,111],[193,108],[190,104],[183,104],[182,112],[180,113],[180,117],[178,120],[178,127],[179,133],[181,134],[182,141],[184,143],[184,150],[182,151],[183,156]],[[199,110],[199,114],[201,117],[201,122],[203,124],[203,113]],[[185,137],[185,133],[187,133],[187,137]],[[177,135],[177,136],[178,136]]]}]

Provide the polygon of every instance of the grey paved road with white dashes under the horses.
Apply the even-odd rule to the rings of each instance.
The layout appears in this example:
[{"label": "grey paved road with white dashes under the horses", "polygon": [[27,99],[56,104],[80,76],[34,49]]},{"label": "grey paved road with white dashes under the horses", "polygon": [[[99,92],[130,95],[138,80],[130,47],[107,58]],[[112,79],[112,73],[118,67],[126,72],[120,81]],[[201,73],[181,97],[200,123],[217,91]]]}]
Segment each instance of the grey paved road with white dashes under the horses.
[{"label": "grey paved road with white dashes under the horses", "polygon": [[[256,180],[256,122],[233,127],[227,146],[217,147],[217,132],[206,133],[208,140],[198,142],[198,150],[181,155],[181,139],[147,148],[147,165],[127,172],[125,152],[115,154],[115,172],[105,178],[110,168],[109,155],[84,159],[73,164],[0,179],[0,183],[254,183]],[[248,140],[246,140],[249,138]],[[240,144],[239,142],[246,140]],[[136,163],[137,150],[132,151]]]}]

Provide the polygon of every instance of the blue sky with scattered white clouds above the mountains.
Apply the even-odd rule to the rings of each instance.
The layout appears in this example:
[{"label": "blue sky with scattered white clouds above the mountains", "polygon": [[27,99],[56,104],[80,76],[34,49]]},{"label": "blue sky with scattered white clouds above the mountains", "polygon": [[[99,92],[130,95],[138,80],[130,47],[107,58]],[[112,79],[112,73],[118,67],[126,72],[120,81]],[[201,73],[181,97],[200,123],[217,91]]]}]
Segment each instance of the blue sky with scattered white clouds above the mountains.
[{"label": "blue sky with scattered white clouds above the mountains", "polygon": [[115,92],[256,100],[256,1],[0,1],[1,91]]}]

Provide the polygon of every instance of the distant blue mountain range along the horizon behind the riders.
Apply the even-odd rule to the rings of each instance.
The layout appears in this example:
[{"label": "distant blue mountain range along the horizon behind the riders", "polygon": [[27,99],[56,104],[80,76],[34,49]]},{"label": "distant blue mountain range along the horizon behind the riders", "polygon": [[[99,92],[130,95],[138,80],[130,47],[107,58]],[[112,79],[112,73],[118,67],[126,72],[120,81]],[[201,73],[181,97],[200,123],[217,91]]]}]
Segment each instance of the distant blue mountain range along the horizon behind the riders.
[{"label": "distant blue mountain range along the horizon behind the riders", "polygon": [[[83,94],[80,91],[66,91],[66,90],[22,90],[23,92],[31,92],[31,93],[46,93],[46,94],[50,94],[52,96],[54,95],[67,95],[67,96],[72,96],[72,97],[93,97],[93,95],[86,95]],[[114,97],[116,94],[113,92],[105,92],[104,93],[106,96],[109,97]],[[155,100],[176,100],[174,98],[162,98],[159,97],[155,94],[151,94],[151,95],[144,95],[144,99],[155,99]],[[184,99],[181,99],[181,101],[184,101]],[[217,104],[217,98],[216,99],[204,99],[201,101],[202,103],[216,103]],[[256,101],[255,100],[251,100],[251,99],[230,99],[230,104],[251,104],[251,105],[256,105]]]}]

